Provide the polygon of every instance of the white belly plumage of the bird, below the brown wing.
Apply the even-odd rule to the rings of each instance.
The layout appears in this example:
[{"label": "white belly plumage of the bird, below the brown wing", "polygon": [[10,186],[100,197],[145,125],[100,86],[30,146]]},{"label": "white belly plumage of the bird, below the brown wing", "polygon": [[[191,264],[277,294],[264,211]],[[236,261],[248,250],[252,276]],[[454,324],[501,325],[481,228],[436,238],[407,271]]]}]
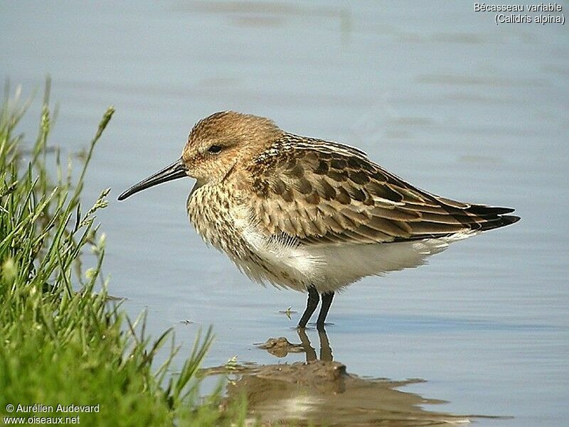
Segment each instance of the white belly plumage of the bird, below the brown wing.
[{"label": "white belly plumage of the bird, below the brown wing", "polygon": [[303,245],[294,239],[268,239],[250,225],[242,234],[243,240],[265,261],[267,269],[247,260],[235,260],[235,264],[255,281],[268,281],[297,291],[305,291],[312,285],[322,293],[338,291],[365,276],[420,266],[428,256],[472,235],[383,244]]}]

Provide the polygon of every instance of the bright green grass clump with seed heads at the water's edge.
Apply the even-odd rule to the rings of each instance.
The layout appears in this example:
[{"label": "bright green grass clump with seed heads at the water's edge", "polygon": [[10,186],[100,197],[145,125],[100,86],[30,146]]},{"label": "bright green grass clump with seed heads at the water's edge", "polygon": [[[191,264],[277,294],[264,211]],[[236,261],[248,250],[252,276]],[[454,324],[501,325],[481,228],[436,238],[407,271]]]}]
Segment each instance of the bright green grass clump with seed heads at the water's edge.
[{"label": "bright green grass clump with seed heads at the water's edge", "polygon": [[[81,426],[242,424],[243,405],[220,411],[219,393],[198,397],[196,371],[211,330],[172,375],[178,351],[172,331],[149,340],[145,315],[130,320],[108,296],[101,273],[105,234],[95,220],[109,190],[87,207],[81,192],[114,109],[103,115],[77,179],[70,160],[48,148],[47,96],[38,136],[27,146],[17,130],[25,111],[26,104],[8,95],[0,111],[0,417],[79,416]],[[84,269],[87,253],[93,265]],[[155,367],[160,349],[169,357]],[[9,412],[9,404],[43,404],[53,412]],[[56,412],[58,404],[98,405],[99,411],[66,414]]]}]

